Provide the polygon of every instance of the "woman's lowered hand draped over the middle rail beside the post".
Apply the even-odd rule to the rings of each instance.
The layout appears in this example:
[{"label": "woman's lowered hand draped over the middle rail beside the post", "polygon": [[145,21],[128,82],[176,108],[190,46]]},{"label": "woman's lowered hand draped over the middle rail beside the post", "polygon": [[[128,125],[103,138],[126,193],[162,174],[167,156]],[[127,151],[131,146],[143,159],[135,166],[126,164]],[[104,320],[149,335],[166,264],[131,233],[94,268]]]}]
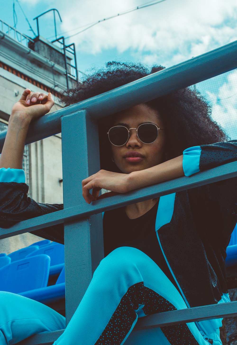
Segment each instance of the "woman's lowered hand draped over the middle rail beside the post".
[{"label": "woman's lowered hand draped over the middle rail beside the post", "polygon": [[[129,174],[100,170],[96,174],[82,180],[83,198],[90,204],[91,201],[98,198],[101,188],[117,193],[126,193],[131,190],[128,179]],[[92,189],[92,194],[90,194],[90,189]]]}]

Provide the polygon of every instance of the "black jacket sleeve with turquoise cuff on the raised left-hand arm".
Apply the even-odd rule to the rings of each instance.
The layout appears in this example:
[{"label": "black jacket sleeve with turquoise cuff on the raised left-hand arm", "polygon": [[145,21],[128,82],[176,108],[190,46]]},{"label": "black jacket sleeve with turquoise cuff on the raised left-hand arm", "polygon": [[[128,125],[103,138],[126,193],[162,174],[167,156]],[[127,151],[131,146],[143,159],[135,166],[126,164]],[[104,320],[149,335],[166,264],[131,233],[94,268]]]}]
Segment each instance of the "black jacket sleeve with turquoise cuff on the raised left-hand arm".
[{"label": "black jacket sleeve with turquoise cuff on the raised left-hand arm", "polygon": [[[8,228],[19,221],[42,216],[63,209],[63,204],[41,204],[27,193],[24,171],[0,169],[0,227]],[[32,234],[64,243],[63,224],[32,231]]]}]

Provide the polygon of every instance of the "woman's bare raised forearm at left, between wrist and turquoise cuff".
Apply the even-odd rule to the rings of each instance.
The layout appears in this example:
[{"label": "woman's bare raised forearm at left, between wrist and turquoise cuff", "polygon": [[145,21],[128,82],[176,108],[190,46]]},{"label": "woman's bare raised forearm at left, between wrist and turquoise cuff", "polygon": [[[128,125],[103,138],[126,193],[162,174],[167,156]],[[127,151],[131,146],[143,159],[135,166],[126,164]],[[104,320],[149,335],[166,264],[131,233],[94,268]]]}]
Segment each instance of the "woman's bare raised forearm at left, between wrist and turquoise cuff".
[{"label": "woman's bare raised forearm at left, between wrist and turquoise cuff", "polygon": [[3,145],[0,168],[22,169],[25,139],[30,120],[12,114],[9,118],[8,131]]}]

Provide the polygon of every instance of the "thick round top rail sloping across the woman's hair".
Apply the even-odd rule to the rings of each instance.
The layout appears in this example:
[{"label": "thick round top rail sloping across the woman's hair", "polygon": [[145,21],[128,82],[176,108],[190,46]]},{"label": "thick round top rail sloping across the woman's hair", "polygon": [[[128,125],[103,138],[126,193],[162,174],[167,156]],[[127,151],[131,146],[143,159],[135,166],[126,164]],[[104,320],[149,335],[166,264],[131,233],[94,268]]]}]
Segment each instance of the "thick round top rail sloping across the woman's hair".
[{"label": "thick round top rail sloping across the woman's hair", "polygon": [[[235,69],[236,54],[237,41],[234,41],[173,67],[47,114],[32,122],[26,144],[60,133],[61,117],[79,110],[87,110],[91,117],[99,119]],[[0,151],[5,137],[6,131],[3,131],[0,134]]]}]

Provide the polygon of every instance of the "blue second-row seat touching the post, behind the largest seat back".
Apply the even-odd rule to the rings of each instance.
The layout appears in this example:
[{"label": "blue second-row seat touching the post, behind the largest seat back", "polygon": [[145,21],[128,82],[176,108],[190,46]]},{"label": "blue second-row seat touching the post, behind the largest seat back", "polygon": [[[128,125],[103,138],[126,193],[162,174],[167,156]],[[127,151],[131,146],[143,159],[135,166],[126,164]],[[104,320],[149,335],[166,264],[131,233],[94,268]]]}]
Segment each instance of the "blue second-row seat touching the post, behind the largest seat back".
[{"label": "blue second-row seat touching the post, behind the largest seat back", "polygon": [[49,274],[58,274],[64,266],[64,245],[60,243],[51,243],[50,245],[43,246],[28,254],[26,257],[34,255],[46,254],[50,257],[50,271]]}]

